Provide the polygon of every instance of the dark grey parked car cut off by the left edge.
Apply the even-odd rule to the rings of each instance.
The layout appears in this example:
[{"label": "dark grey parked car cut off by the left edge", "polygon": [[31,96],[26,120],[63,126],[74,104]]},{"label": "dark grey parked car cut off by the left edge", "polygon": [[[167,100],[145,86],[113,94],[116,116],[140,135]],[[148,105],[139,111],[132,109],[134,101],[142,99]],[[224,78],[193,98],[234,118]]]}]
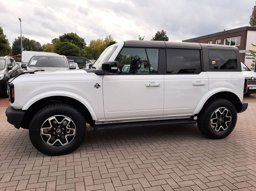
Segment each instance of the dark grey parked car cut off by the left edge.
[{"label": "dark grey parked car cut off by the left edge", "polygon": [[21,73],[19,65],[11,56],[0,57],[0,94],[4,97],[7,95],[7,82]]}]

